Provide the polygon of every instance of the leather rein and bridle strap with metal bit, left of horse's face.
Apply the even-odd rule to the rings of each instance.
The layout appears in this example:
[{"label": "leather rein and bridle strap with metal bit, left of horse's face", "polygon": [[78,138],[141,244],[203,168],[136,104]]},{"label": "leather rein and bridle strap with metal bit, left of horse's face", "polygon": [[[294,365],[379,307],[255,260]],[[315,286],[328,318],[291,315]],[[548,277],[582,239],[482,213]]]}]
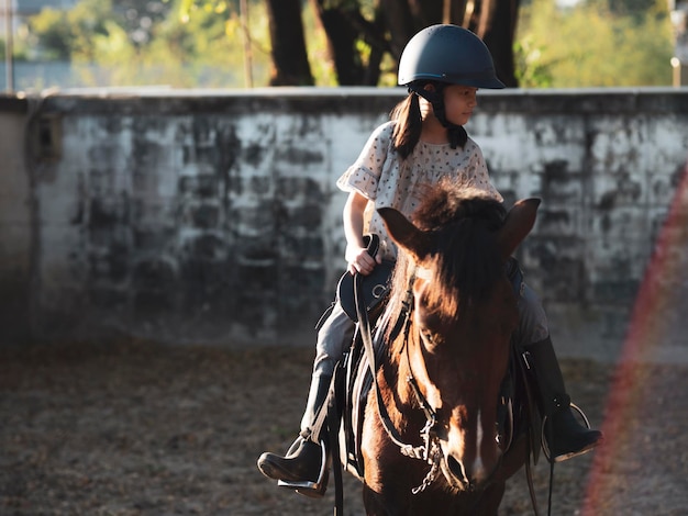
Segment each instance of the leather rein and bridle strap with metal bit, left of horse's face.
[{"label": "leather rein and bridle strap with metal bit, left of horse's face", "polygon": [[377,397],[377,410],[380,420],[382,423],[382,427],[391,439],[391,441],[399,447],[401,455],[406,457],[411,457],[414,459],[421,459],[429,464],[431,464],[430,472],[423,479],[423,482],[418,487],[411,490],[413,494],[418,494],[423,492],[437,476],[437,472],[440,470],[440,461],[442,460],[442,449],[439,444],[437,435],[436,435],[436,414],[435,411],[430,406],[425,396],[420,391],[418,386],[418,382],[413,377],[413,372],[411,371],[411,362],[409,357],[409,347],[408,347],[408,334],[409,326],[411,321],[410,306],[411,303],[406,303],[403,314],[404,316],[400,319],[403,321],[403,333],[404,333],[404,347],[407,349],[407,360],[409,360],[409,371],[411,371],[411,375],[407,379],[407,382],[411,385],[411,389],[418,400],[418,403],[423,410],[425,414],[425,426],[421,430],[421,437],[423,438],[423,444],[421,446],[412,446],[406,444],[402,440],[402,437],[399,435],[399,431],[395,427],[391,418],[389,417],[389,413],[387,412],[387,407],[385,405],[385,401],[382,400],[382,395],[380,393],[379,385],[377,383],[377,362],[375,360],[375,349],[373,346],[373,337],[370,332],[370,322],[368,319],[367,310],[365,306],[365,302],[363,296],[360,295],[360,283],[363,281],[363,277],[360,274],[355,274],[354,277],[354,298],[356,301],[356,314],[358,316],[358,325],[360,329],[360,338],[363,340],[364,349],[366,356],[368,358],[368,367],[370,368],[370,372],[373,375],[373,389],[375,390],[375,395]]}]

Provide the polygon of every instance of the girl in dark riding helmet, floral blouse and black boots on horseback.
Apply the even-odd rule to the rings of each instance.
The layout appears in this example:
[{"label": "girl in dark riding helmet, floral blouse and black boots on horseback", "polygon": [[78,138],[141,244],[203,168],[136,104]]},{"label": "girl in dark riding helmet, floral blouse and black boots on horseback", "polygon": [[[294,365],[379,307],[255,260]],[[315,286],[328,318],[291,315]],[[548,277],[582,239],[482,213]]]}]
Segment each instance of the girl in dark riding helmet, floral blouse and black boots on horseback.
[{"label": "girl in dark riding helmet, floral blouse and black boots on horseback", "polygon": [[[358,159],[337,181],[340,189],[348,192],[343,218],[345,258],[352,273],[369,274],[382,259],[396,259],[396,244],[377,210],[392,207],[411,216],[428,184],[450,178],[502,201],[490,182],[480,148],[463,127],[477,105],[479,88],[503,88],[487,46],[459,26],[424,29],[401,55],[398,82],[408,88],[408,97],[395,108],[392,120],[373,132]],[[380,250],[375,257],[367,253],[365,233],[380,236]],[[522,289],[518,307],[519,339],[537,383],[541,412],[547,416],[545,435],[553,436],[547,442],[551,456],[559,461],[586,452],[602,435],[585,428],[574,417],[545,313],[528,285]],[[286,456],[265,452],[258,459],[258,469],[266,476],[293,485],[302,494],[321,496],[325,489],[321,475],[324,437],[312,431],[313,422],[354,329],[355,323],[335,302],[318,332],[301,431]]]}]

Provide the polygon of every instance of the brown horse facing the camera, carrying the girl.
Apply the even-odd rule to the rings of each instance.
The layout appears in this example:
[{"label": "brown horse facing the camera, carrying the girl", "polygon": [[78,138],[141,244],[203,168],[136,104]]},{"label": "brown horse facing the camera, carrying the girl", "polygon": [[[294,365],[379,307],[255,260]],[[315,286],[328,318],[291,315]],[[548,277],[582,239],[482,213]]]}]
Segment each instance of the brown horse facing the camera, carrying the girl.
[{"label": "brown horse facing the camera, carrying the girl", "polygon": [[380,210],[399,259],[363,422],[364,503],[368,515],[496,515],[528,456],[499,415],[519,318],[507,261],[540,201],[507,212],[448,183],[424,199],[413,222]]}]

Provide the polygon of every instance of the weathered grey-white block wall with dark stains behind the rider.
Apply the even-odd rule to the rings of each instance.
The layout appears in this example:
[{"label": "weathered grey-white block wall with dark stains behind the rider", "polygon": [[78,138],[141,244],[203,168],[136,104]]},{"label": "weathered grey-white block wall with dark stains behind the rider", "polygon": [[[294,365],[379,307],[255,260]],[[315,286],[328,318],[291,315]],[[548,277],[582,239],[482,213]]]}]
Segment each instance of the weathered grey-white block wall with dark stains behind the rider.
[{"label": "weathered grey-white block wall with dark stains behind the rider", "polygon": [[[334,182],[401,93],[56,96],[25,104],[24,167],[25,116],[0,112],[2,288],[27,285],[37,336],[298,338],[344,266]],[[479,102],[495,184],[543,198],[519,256],[553,325],[618,339],[688,156],[688,91]]]}]

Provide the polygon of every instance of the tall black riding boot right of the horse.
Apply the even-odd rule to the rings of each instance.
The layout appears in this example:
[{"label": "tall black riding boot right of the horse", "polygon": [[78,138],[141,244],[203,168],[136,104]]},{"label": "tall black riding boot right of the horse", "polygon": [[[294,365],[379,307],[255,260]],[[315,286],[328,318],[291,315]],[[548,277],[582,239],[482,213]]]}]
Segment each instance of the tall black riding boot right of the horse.
[{"label": "tall black riding boot right of the horse", "polygon": [[544,435],[550,460],[562,462],[590,451],[602,439],[602,433],[582,426],[572,413],[570,396],[566,394],[552,340],[547,337],[524,349],[535,380],[540,411],[546,416]]}]

